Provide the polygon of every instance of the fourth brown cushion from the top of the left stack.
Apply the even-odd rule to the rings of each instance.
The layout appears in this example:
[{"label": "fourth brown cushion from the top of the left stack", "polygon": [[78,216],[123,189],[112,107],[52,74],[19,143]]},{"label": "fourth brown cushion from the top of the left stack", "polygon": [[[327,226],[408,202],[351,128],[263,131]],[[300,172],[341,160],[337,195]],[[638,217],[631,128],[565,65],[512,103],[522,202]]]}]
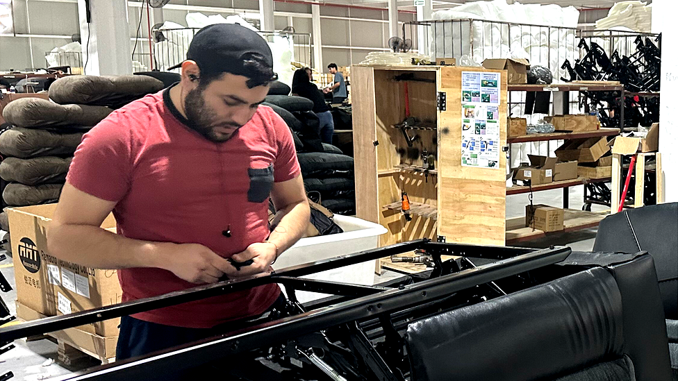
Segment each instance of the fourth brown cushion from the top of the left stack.
[{"label": "fourth brown cushion from the top of the left stack", "polygon": [[[63,184],[66,181],[71,159],[53,156],[33,159],[6,158],[0,162],[0,178],[10,183],[24,185]],[[1,223],[0,219],[0,226]]]}]

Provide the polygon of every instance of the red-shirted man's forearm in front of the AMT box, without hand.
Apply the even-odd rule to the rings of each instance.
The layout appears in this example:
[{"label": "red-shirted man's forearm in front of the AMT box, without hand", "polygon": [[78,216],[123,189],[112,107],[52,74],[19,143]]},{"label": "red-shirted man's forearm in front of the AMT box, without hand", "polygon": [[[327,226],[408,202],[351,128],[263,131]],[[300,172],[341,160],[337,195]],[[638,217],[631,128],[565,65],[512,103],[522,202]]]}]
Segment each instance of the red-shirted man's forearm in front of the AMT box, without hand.
[{"label": "red-shirted man's forearm in front of the AMT box, without hand", "polygon": [[95,269],[160,267],[163,243],[129,239],[88,225],[56,225],[47,229],[47,249],[61,260]]}]

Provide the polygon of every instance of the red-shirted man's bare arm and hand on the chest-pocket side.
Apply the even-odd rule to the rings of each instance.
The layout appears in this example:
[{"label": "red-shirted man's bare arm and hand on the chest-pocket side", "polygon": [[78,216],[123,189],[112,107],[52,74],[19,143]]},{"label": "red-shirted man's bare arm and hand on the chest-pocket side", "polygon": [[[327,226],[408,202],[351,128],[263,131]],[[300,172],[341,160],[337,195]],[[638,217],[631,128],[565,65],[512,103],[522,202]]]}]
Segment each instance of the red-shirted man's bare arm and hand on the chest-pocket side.
[{"label": "red-shirted man's bare arm and hand on the chest-pocket side", "polygon": [[233,255],[233,260],[237,262],[254,260],[250,266],[241,267],[238,276],[267,271],[276,257],[299,241],[306,231],[308,221],[311,219],[311,209],[308,207],[301,176],[274,183],[271,198],[276,210],[279,211],[276,219],[281,215],[280,222],[266,242],[251,244],[247,250]]}]

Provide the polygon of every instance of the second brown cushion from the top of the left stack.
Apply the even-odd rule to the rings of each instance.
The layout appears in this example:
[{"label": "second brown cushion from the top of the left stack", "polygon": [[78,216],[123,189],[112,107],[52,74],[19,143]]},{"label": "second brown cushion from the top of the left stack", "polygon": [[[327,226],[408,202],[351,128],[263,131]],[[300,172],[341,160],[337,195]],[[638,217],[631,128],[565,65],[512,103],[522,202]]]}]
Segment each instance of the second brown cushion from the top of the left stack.
[{"label": "second brown cushion from the top of the left stack", "polygon": [[72,128],[94,126],[111,112],[102,106],[58,105],[47,99],[22,98],[8,103],[2,116],[8,123],[24,128]]}]

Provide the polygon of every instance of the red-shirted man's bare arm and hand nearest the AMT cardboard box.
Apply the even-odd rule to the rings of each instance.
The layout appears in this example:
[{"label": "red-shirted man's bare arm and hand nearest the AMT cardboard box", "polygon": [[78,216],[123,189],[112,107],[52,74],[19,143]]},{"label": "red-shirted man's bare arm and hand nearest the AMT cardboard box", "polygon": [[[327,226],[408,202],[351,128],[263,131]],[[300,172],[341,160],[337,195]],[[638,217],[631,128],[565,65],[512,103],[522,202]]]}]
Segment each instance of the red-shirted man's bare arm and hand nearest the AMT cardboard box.
[{"label": "red-shirted man's bare arm and hand nearest the AMT cardboard box", "polygon": [[194,283],[217,282],[224,273],[235,273],[205,246],[140,241],[100,228],[115,204],[66,183],[47,229],[49,253],[95,269],[158,267]]}]

